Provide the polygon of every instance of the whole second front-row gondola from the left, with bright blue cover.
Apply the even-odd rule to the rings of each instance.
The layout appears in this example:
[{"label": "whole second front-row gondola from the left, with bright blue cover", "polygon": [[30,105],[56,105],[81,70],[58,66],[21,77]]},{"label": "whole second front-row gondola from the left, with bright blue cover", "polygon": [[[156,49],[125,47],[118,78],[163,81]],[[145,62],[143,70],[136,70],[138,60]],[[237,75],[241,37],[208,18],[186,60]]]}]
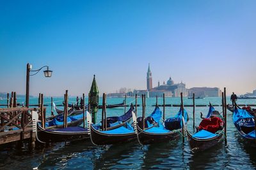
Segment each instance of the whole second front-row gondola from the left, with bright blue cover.
[{"label": "whole second front-row gondola from the left, with bright blue cover", "polygon": [[[133,121],[136,121],[134,118],[134,112],[132,111]],[[134,120],[135,119],[135,120]],[[94,145],[112,145],[115,143],[123,143],[128,141],[134,141],[137,138],[136,133],[136,124],[135,127],[132,127],[131,124],[125,122],[122,126],[116,127],[111,130],[100,131],[95,129],[92,124],[92,117],[90,113],[87,113],[88,129],[90,132],[90,139]]]}]

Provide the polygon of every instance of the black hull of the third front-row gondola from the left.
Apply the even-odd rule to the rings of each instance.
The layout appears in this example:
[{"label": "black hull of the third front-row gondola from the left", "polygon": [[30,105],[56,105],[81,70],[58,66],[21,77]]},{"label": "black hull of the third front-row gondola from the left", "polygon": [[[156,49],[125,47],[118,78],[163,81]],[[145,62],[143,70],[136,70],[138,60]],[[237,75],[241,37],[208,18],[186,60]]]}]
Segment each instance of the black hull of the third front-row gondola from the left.
[{"label": "black hull of the third front-row gondola from the left", "polygon": [[182,130],[180,129],[173,132],[171,131],[171,132],[157,134],[157,133],[142,131],[142,129],[138,127],[138,139],[142,145],[147,145],[150,143],[161,143],[161,142],[179,139],[181,132]]}]

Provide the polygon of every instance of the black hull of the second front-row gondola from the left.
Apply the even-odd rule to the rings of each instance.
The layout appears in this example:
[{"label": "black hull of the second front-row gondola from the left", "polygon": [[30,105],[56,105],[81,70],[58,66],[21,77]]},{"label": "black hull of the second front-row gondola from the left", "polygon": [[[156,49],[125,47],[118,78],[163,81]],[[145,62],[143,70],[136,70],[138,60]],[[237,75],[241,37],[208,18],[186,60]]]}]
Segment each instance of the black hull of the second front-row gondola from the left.
[{"label": "black hull of the second front-row gondola from the left", "polygon": [[95,145],[111,145],[115,143],[123,143],[134,141],[137,138],[137,134],[135,132],[127,133],[127,134],[106,134],[100,131],[97,131],[90,126],[90,134],[92,143]]}]

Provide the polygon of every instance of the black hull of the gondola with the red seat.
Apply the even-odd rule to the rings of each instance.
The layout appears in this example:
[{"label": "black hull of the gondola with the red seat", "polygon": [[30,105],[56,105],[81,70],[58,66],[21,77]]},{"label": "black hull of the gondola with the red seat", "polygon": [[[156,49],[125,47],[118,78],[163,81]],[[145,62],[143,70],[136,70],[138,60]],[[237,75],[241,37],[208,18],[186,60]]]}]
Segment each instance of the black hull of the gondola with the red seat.
[{"label": "black hull of the gondola with the red seat", "polygon": [[191,152],[193,153],[207,150],[212,146],[218,145],[218,143],[221,143],[221,141],[223,141],[224,139],[223,132],[218,134],[218,136],[215,136],[214,138],[210,138],[210,139],[193,138],[188,131],[187,131],[187,136],[188,136],[189,147],[191,149]]}]

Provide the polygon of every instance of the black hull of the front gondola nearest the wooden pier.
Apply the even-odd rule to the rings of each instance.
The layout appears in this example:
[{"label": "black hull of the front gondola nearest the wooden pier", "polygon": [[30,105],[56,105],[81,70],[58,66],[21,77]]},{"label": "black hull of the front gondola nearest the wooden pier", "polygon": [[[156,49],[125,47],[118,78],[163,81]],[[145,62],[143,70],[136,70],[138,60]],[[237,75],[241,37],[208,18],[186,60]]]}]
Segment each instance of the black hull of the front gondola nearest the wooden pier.
[{"label": "black hull of the front gondola nearest the wooden pier", "polygon": [[37,126],[37,136],[45,143],[90,139],[87,129],[84,129],[84,132],[47,131],[40,125]]}]

